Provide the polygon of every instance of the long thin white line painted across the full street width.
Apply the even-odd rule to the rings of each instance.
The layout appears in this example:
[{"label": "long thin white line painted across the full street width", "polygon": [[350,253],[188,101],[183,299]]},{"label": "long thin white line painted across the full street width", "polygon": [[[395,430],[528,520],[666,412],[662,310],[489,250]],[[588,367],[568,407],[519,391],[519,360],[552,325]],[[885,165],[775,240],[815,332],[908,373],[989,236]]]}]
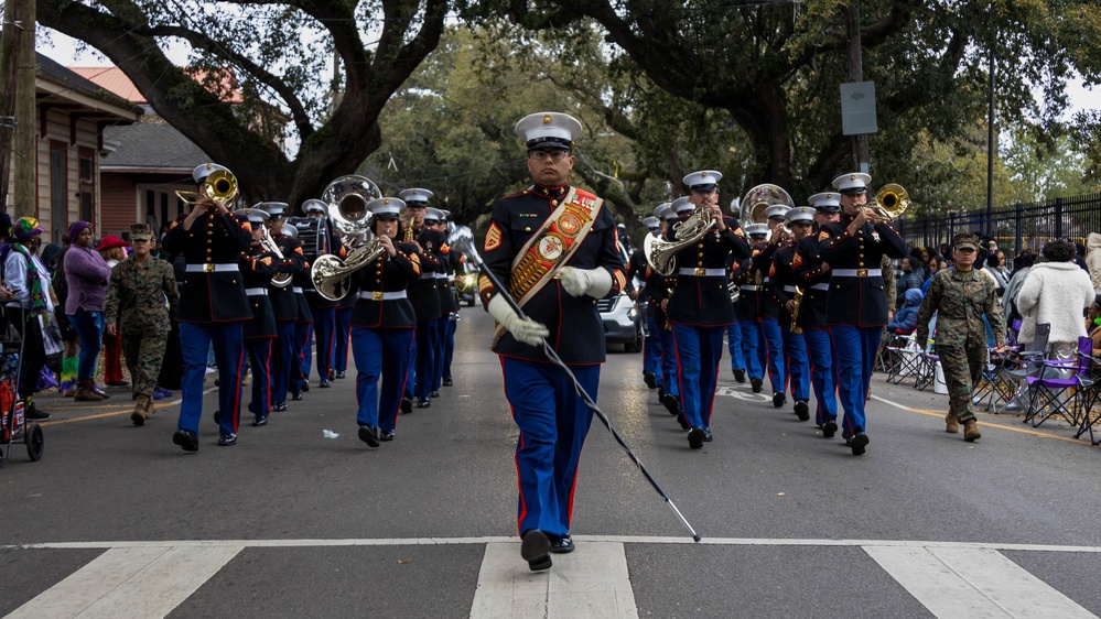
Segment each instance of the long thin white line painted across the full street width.
[{"label": "long thin white line painted across the full street width", "polygon": [[[573,535],[574,542],[617,542],[622,544],[692,544],[683,536],[647,535]],[[516,536],[488,535],[483,537],[346,537],[331,540],[171,540],[171,541],[99,541],[99,542],[41,542],[0,545],[2,550],[85,550],[85,549],[141,549],[165,546],[186,547],[317,547],[317,546],[438,546],[456,544],[492,544],[516,542]],[[897,546],[897,547],[951,547],[990,549],[995,551],[1101,553],[1101,546],[1071,546],[1054,544],[1013,544],[1000,542],[942,542],[920,540],[824,540],[789,537],[704,537],[700,544],[720,546]]]}]

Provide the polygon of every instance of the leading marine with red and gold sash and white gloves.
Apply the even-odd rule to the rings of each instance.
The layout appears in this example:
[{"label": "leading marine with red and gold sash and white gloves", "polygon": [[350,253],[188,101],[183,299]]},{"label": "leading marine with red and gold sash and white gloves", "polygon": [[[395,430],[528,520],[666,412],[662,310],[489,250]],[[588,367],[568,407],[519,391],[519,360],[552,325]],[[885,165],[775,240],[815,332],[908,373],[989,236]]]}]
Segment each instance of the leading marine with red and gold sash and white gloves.
[{"label": "leading marine with red and gold sash and white gloves", "polygon": [[520,556],[532,571],[551,567],[550,552],[573,550],[570,521],[578,461],[593,413],[569,376],[549,362],[553,347],[596,400],[605,360],[596,300],[626,285],[615,220],[598,197],[571,187],[573,139],[581,123],[557,112],[525,117],[516,132],[528,148],[529,188],[493,205],[485,268],[521,304],[520,316],[483,275],[478,292],[498,324],[505,397],[519,428],[516,470]]}]

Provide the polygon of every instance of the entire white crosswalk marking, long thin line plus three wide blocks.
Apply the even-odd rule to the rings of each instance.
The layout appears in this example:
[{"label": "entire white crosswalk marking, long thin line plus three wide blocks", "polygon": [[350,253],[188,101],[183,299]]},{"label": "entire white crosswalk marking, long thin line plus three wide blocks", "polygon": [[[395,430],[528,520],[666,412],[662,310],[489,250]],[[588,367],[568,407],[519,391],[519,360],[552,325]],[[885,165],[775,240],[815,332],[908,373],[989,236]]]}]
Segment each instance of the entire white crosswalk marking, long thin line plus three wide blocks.
[{"label": "entire white crosswalk marking, long thin line plus three wide blocks", "polygon": [[[8,617],[65,619],[165,617],[244,549],[439,546],[485,549],[469,616],[638,617],[628,544],[678,544],[682,537],[575,536],[578,551],[553,555],[554,567],[532,573],[510,537],[68,542],[2,546],[106,549]],[[859,546],[931,615],[956,618],[1095,618],[1089,610],[1000,551],[1086,553],[1101,547],[875,540],[712,537],[709,546]],[[467,598],[468,599],[468,598]]]}]

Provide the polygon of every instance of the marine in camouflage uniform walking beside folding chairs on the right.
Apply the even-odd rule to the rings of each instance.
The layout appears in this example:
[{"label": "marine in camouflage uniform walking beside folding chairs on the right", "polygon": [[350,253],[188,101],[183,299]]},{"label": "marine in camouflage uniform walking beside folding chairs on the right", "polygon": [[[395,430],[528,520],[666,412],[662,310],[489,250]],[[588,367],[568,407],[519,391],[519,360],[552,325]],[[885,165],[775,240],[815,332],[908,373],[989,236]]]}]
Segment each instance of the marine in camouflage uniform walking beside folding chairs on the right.
[{"label": "marine in camouflage uniform walking beside folding chairs on the right", "polygon": [[971,235],[956,237],[956,267],[933,275],[929,293],[918,311],[918,341],[929,337],[929,318],[937,313],[937,354],[948,384],[949,410],[945,417],[950,433],[960,431],[963,437],[976,441],[982,436],[975,422],[974,384],[982,378],[986,362],[986,316],[999,347],[1005,345],[1005,318],[997,301],[994,281],[973,269],[979,239]]}]

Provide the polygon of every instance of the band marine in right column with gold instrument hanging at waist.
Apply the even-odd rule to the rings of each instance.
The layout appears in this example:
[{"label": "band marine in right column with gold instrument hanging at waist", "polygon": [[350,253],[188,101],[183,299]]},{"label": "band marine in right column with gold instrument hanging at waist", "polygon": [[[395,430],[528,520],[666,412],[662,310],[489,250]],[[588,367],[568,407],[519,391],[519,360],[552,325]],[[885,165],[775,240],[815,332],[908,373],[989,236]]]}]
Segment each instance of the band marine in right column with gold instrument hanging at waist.
[{"label": "band marine in right column with gold instrument hanging at waist", "polygon": [[780,304],[778,326],[784,339],[782,355],[788,379],[791,384],[791,399],[795,400],[795,414],[799,421],[810,419],[810,367],[807,363],[807,343],[796,325],[799,310],[806,301],[806,292],[794,271],[796,245],[810,236],[814,225],[814,209],[800,206],[787,211],[791,242],[785,243],[773,256],[773,270],[769,272],[769,287],[773,297]]}]

